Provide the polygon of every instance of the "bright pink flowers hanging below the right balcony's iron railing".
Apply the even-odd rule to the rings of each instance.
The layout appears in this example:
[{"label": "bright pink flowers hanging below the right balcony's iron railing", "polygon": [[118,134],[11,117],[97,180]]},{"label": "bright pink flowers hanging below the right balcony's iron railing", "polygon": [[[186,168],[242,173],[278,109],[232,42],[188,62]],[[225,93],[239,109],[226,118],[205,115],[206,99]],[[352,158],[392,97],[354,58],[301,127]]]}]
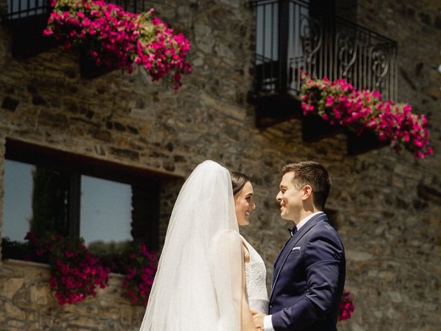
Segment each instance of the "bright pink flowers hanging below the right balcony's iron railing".
[{"label": "bright pink flowers hanging below the right balcony's iron railing", "polygon": [[404,148],[419,159],[433,153],[427,118],[413,114],[409,104],[384,102],[380,92],[356,90],[345,79],[311,79],[302,72],[302,80],[303,114],[316,113],[329,124],[347,126],[357,134],[369,130],[380,141],[391,141],[394,149]]}]

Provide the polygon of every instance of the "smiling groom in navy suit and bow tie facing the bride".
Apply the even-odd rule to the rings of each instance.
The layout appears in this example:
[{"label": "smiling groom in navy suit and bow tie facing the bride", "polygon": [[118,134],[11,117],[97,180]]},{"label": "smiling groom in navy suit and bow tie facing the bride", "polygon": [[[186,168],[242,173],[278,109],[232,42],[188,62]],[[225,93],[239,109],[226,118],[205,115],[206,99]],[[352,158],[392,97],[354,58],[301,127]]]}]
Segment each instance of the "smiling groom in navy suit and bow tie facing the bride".
[{"label": "smiling groom in navy suit and bow tie facing the bride", "polygon": [[269,315],[253,312],[257,330],[333,331],[345,285],[342,241],[322,212],[331,181],[313,161],[283,167],[277,201],[280,216],[294,223],[274,263]]}]

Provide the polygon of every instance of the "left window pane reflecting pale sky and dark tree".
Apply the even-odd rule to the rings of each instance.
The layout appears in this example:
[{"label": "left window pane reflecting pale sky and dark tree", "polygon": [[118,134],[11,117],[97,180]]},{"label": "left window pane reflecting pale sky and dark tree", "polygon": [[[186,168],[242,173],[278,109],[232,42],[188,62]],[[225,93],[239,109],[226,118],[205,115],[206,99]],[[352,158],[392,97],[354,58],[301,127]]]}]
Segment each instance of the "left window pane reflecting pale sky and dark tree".
[{"label": "left window pane reflecting pale sky and dark tree", "polygon": [[68,234],[68,177],[66,174],[6,160],[2,236],[23,241],[25,233]]}]

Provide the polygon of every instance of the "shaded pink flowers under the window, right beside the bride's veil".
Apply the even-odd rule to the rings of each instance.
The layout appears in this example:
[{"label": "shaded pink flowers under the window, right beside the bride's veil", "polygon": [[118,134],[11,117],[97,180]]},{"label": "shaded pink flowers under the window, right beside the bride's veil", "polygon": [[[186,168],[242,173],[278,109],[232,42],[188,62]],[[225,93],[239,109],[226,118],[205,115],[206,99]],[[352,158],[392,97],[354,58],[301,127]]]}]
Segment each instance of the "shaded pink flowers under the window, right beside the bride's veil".
[{"label": "shaded pink flowers under the window, right beside the bride's veil", "polygon": [[122,285],[126,288],[125,294],[133,304],[144,303],[147,305],[154,275],[158,265],[156,252],[149,252],[145,244],[137,245],[129,252],[129,259],[123,266],[125,279]]}]

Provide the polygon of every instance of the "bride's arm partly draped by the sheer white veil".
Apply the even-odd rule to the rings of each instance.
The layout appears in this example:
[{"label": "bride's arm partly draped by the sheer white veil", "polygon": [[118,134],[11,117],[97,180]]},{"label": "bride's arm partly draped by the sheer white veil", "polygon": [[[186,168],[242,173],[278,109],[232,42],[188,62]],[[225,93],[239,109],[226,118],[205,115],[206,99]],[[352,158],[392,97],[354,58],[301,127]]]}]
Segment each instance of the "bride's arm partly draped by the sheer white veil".
[{"label": "bride's arm partly draped by the sheer white veil", "polygon": [[215,247],[214,263],[217,262],[217,265],[214,277],[220,320],[229,325],[229,329],[225,330],[254,331],[256,329],[245,294],[244,259],[247,252],[242,237],[233,230],[225,231],[219,235]]}]

